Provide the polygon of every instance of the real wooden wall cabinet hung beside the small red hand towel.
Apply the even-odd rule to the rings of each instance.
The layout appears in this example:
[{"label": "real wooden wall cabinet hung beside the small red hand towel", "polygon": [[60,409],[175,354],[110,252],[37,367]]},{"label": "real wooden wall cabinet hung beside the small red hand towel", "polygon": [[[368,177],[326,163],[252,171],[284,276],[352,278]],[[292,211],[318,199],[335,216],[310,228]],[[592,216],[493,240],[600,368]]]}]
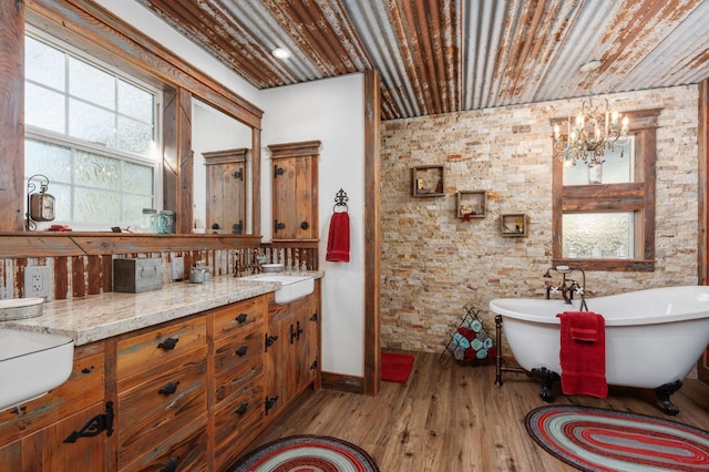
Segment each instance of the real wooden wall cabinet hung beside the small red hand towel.
[{"label": "real wooden wall cabinet hung beside the small red hand towel", "polygon": [[317,239],[320,142],[268,146],[274,163],[274,240]]}]

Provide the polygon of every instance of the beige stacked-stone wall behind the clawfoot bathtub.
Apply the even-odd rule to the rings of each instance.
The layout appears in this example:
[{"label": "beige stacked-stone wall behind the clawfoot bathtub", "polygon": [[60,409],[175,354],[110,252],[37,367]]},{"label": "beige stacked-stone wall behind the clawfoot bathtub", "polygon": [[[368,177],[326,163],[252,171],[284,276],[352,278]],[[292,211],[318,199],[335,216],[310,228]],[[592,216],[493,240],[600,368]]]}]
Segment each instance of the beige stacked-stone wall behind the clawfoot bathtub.
[{"label": "beige stacked-stone wall behind the clawfoot bathtub", "polygon": [[[607,96],[619,111],[661,107],[653,273],[586,274],[589,296],[696,285],[698,89]],[[393,120],[381,126],[381,327],[386,348],[442,350],[463,307],[494,332],[493,298],[544,297],[552,258],[552,129],[577,100]],[[444,196],[412,197],[411,167],[443,165]],[[458,191],[487,191],[487,215],[455,213]],[[502,213],[526,213],[527,237],[503,237]]]}]

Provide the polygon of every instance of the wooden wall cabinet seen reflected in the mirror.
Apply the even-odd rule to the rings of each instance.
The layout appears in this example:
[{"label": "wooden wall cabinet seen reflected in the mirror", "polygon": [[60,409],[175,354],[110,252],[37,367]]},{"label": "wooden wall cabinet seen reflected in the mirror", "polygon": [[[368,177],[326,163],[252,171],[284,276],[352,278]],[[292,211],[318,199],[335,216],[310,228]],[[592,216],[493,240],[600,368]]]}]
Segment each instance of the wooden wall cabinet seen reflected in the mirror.
[{"label": "wooden wall cabinet seen reflected in the mirror", "polygon": [[245,234],[247,154],[246,147],[202,154],[207,174],[207,233]]}]

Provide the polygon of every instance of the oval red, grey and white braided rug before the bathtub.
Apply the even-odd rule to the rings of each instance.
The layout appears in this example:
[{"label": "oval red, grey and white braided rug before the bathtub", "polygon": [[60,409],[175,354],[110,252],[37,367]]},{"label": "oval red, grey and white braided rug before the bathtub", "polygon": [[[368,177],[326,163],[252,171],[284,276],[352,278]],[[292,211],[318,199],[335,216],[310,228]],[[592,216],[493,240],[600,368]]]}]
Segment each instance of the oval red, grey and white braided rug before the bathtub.
[{"label": "oval red, grey and white braided rug before the bathtub", "polygon": [[644,414],[546,406],[525,418],[546,451],[582,471],[709,471],[709,432]]}]

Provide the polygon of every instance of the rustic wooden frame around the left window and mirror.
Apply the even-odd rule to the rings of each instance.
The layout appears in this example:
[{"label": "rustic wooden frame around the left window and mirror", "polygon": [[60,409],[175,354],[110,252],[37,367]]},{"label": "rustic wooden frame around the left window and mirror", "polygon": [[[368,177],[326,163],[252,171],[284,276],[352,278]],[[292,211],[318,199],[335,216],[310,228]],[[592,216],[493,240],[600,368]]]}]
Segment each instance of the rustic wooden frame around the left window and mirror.
[{"label": "rustic wooden frame around the left window and mirror", "polygon": [[[260,232],[263,111],[233,93],[100,6],[71,0],[2,2],[0,18],[0,142],[7,173],[0,175],[0,230],[24,228],[25,21],[96,58],[163,89],[163,205],[181,215],[176,233],[192,232],[192,99],[198,98],[251,129],[253,232]],[[25,234],[27,235],[27,234]],[[156,236],[157,237],[157,236]]]}]

